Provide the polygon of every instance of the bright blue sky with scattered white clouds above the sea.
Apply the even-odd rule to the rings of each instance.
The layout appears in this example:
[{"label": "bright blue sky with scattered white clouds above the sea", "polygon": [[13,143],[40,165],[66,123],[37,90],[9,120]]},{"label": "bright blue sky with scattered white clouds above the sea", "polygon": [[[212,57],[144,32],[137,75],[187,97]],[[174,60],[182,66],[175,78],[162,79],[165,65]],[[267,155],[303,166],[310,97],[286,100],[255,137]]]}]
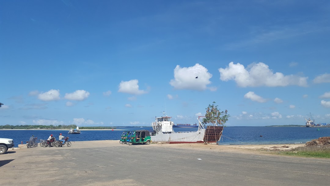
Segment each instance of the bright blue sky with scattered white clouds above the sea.
[{"label": "bright blue sky with scattered white clouds above the sea", "polygon": [[195,123],[213,101],[227,126],[330,123],[329,18],[322,0],[1,1],[0,125]]}]

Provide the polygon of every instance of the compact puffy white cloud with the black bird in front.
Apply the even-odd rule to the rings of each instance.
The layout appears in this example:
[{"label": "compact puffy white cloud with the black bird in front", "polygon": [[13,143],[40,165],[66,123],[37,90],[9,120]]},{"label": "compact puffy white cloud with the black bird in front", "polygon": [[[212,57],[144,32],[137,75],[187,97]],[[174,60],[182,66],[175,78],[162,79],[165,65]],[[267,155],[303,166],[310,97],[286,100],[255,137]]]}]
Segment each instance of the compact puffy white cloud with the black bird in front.
[{"label": "compact puffy white cloud with the black bird in front", "polygon": [[[175,89],[203,91],[208,88],[207,85],[211,84],[211,77],[212,74],[208,72],[208,69],[198,63],[182,68],[177,65],[174,69],[174,79],[170,81],[170,85]],[[215,91],[214,88],[209,89]]]}]

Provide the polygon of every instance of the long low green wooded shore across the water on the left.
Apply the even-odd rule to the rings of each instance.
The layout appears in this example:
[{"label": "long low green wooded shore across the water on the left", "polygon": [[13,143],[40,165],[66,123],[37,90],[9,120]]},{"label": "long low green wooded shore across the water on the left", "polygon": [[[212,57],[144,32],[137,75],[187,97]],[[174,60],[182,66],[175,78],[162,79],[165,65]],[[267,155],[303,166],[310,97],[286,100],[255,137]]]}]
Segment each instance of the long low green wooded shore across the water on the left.
[{"label": "long low green wooded shore across the water on the left", "polygon": [[[0,125],[1,129],[76,129],[77,125]],[[115,127],[79,127],[79,129],[116,129]]]}]

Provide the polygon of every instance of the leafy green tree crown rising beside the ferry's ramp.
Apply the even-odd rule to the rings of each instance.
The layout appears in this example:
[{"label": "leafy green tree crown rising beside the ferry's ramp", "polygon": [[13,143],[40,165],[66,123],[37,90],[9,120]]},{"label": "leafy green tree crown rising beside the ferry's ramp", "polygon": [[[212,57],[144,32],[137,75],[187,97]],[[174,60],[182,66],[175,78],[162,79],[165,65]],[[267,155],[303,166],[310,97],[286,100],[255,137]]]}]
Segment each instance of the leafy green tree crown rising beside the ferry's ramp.
[{"label": "leafy green tree crown rising beside the ferry's ramp", "polygon": [[224,126],[224,124],[228,121],[230,115],[228,111],[221,111],[218,109],[218,105],[209,104],[206,108],[205,118],[202,120],[202,124],[206,125],[208,123],[213,124],[215,126]]}]

